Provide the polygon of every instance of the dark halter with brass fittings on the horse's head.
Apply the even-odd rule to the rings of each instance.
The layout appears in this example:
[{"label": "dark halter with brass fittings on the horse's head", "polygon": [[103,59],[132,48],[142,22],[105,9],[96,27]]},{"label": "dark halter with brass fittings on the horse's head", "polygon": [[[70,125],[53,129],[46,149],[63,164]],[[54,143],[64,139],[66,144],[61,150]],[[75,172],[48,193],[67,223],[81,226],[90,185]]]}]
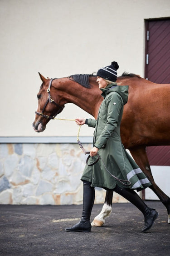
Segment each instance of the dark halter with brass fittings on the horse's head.
[{"label": "dark halter with brass fittings on the horse's head", "polygon": [[[47,92],[48,92],[48,94],[49,94],[49,97],[48,97],[48,99],[47,99],[47,101],[46,101],[46,103],[45,103],[45,105],[44,105],[44,108],[43,108],[42,112],[39,113],[39,112],[35,111],[35,114],[36,114],[36,115],[41,115],[42,117],[44,117],[44,118],[46,118],[46,119],[54,119],[54,117],[55,117],[58,113],[60,113],[60,112],[63,110],[63,108],[64,108],[64,106],[60,106],[60,105],[58,105],[54,100],[52,100],[51,95],[50,95],[50,87],[51,87],[51,85],[52,85],[53,80],[55,80],[55,79],[57,79],[57,78],[53,78],[53,79],[51,79],[50,82],[49,82],[49,88],[47,89]],[[48,103],[53,103],[53,104],[55,104],[57,107],[59,107],[57,113],[56,113],[54,116],[49,116],[49,115],[44,115],[44,114],[43,114],[43,113],[44,113],[44,110],[45,110],[45,108],[46,108],[46,106],[47,106]]]}]

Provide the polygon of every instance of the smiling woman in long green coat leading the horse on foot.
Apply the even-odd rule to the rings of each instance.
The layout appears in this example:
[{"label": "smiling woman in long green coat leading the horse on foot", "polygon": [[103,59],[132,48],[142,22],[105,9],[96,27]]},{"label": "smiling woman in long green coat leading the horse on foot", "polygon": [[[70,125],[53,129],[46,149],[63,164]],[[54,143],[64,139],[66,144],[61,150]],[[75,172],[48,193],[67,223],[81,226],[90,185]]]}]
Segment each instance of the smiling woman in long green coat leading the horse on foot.
[{"label": "smiling woman in long green coat leading the horse on foot", "polygon": [[[78,125],[87,124],[95,127],[93,148],[90,151],[91,162],[100,155],[100,160],[93,166],[86,165],[81,180],[83,181],[83,212],[81,220],[74,226],[66,228],[70,232],[90,232],[90,216],[94,204],[94,187],[113,189],[135,205],[144,215],[145,225],[142,232],[151,228],[158,216],[155,209],[149,208],[134,191],[141,191],[151,186],[139,166],[126,152],[120,137],[120,124],[123,106],[128,99],[128,86],[118,86],[117,62],[105,66],[97,71],[97,82],[102,90],[104,100],[100,106],[97,120],[76,119]],[[90,161],[89,161],[90,164]],[[110,172],[110,174],[108,173]],[[128,180],[131,185],[127,187],[118,179]]]}]

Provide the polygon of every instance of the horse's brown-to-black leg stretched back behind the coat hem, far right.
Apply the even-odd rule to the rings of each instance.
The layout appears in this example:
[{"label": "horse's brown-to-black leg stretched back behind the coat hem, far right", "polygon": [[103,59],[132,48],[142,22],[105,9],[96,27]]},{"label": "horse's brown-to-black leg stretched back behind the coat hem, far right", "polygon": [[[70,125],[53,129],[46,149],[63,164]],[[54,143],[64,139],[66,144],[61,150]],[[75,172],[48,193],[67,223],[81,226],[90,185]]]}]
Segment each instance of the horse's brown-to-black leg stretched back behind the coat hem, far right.
[{"label": "horse's brown-to-black leg stretched back behind the coat hem, far right", "polygon": [[168,212],[168,223],[170,223],[170,197],[167,196],[155,183],[154,178],[151,173],[151,167],[146,155],[146,147],[141,146],[134,149],[130,149],[131,155],[133,156],[134,160],[136,161],[137,165],[141,168],[141,170],[145,173],[147,178],[151,182],[151,190],[154,191],[156,196],[159,197],[160,201],[166,207]]}]

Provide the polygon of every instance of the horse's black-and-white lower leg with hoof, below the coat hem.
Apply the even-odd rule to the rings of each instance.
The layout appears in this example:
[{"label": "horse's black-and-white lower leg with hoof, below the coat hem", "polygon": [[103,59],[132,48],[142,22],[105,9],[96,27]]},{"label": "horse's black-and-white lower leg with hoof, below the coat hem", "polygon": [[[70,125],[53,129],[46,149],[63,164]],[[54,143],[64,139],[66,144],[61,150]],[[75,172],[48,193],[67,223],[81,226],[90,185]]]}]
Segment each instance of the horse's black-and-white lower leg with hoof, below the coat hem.
[{"label": "horse's black-and-white lower leg with hoof, below the coat hem", "polygon": [[93,227],[102,226],[105,223],[105,219],[111,215],[112,198],[113,198],[113,190],[107,190],[102,211],[94,218],[94,220],[91,223]]}]

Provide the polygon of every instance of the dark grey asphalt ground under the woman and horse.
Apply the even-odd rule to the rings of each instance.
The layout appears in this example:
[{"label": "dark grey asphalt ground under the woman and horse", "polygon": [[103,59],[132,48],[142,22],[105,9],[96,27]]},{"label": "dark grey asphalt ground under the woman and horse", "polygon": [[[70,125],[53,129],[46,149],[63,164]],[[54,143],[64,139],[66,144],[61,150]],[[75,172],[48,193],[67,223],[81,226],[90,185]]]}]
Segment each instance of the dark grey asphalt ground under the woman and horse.
[{"label": "dark grey asphalt ground under the woman and horse", "polygon": [[[146,201],[159,212],[151,230],[130,203],[113,204],[104,226],[90,233],[66,232],[81,216],[80,206],[0,205],[0,255],[16,256],[169,256],[170,224],[160,201]],[[92,218],[102,205],[94,205]]]}]

